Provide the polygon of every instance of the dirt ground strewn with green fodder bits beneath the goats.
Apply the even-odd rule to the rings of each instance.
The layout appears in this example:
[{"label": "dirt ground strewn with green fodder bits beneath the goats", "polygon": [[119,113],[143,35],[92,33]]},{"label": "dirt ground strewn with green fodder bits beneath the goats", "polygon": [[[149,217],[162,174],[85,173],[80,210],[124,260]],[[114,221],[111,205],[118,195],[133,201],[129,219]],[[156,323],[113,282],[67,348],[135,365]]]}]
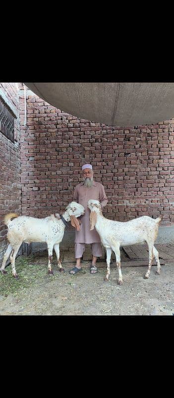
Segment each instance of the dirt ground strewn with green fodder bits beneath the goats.
[{"label": "dirt ground strewn with green fodder bits beneath the goats", "polygon": [[19,279],[12,277],[10,265],[0,275],[0,315],[174,315],[174,263],[162,265],[160,276],[153,266],[148,280],[143,279],[147,267],[123,267],[122,286],[117,285],[115,264],[109,282],[104,281],[102,262],[95,275],[89,261],[83,261],[78,274],[69,275],[74,265],[64,263],[66,272],[60,274],[54,256],[54,275],[49,276],[46,252],[19,256]]}]

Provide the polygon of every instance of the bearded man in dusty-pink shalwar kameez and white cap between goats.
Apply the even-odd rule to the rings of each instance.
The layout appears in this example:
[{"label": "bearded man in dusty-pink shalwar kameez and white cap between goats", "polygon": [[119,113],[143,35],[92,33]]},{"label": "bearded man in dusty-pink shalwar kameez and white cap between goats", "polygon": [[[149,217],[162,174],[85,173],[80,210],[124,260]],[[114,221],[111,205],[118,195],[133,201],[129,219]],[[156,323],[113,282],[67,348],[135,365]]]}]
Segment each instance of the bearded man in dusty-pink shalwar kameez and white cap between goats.
[{"label": "bearded man in dusty-pink shalwar kameez and white cap between goats", "polygon": [[75,187],[74,199],[84,206],[85,214],[80,217],[80,231],[75,231],[76,266],[69,271],[72,275],[81,270],[80,260],[85,250],[85,243],[91,244],[92,262],[90,273],[96,274],[96,261],[97,257],[102,256],[102,248],[98,232],[95,229],[90,231],[90,210],[88,208],[88,200],[99,200],[102,208],[108,203],[103,185],[93,180],[92,166],[90,164],[82,166],[82,173],[84,181]]}]

